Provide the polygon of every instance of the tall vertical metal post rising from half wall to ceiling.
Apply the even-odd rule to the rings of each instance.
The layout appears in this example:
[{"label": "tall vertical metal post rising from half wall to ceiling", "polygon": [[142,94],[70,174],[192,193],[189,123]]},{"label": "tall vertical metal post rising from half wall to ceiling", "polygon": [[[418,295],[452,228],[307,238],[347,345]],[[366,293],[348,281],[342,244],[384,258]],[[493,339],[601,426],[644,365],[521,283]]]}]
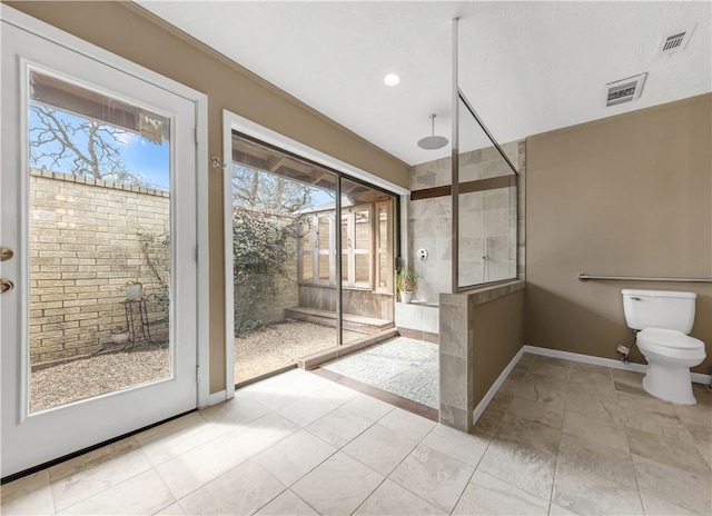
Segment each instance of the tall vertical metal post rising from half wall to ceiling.
[{"label": "tall vertical metal post rising from half wall to ceiling", "polygon": [[458,19],[453,19],[453,133],[452,133],[452,187],[451,187],[451,264],[452,264],[452,286],[451,292],[456,294],[459,287],[459,96],[457,93],[457,23]]}]

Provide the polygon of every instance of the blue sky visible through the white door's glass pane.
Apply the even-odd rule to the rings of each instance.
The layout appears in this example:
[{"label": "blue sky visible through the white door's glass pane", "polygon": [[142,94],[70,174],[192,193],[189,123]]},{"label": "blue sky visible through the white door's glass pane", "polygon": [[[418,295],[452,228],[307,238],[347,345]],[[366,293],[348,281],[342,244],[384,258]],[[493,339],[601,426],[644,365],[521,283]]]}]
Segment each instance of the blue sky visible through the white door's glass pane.
[{"label": "blue sky visible through the white door's glass pane", "polygon": [[[70,115],[68,112],[56,110],[57,118],[66,123],[78,123],[81,120],[86,120],[82,117]],[[32,128],[39,123],[37,113],[30,110],[30,138],[32,137]],[[111,126],[106,126],[111,127]],[[156,188],[168,190],[170,188],[170,143],[164,142],[162,145],[152,143],[142,136],[119,130],[116,140],[109,141],[119,151],[121,160],[126,163],[127,169],[132,175],[141,177],[144,183],[152,185]],[[75,141],[80,149],[86,149],[87,137],[78,133],[75,137]],[[59,150],[59,143],[57,141],[48,142],[42,146],[42,150],[57,151]],[[39,148],[37,149],[39,150]],[[72,169],[72,159],[63,159],[57,166],[52,165],[50,158],[43,158],[32,167],[41,168],[46,166],[57,172],[70,173]]]}]

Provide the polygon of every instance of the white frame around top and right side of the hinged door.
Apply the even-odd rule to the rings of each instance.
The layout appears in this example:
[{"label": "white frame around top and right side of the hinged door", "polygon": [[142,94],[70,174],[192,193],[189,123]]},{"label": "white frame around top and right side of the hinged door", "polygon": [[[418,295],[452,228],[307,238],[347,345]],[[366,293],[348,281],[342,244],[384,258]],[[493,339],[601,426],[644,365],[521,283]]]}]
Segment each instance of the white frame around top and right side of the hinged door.
[{"label": "white frame around top and right side of the hinged door", "polygon": [[[208,97],[200,91],[181,85],[172,79],[144,68],[128,59],[109,52],[88,41],[71,36],[53,26],[32,18],[23,12],[0,4],[0,18],[27,32],[65,47],[89,59],[134,76],[145,82],[180,96],[196,106],[196,207],[197,207],[197,364],[198,364],[198,407],[207,406],[209,400],[209,276],[208,276]],[[0,200],[1,201],[1,200]]]}]

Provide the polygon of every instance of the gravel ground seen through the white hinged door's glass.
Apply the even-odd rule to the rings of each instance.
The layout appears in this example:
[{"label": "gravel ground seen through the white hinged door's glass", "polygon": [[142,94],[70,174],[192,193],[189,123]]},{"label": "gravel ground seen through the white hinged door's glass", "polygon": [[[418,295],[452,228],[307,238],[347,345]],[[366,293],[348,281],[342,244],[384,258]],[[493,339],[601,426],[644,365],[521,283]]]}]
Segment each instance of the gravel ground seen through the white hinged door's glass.
[{"label": "gravel ground seen through the white hinged door's glass", "polygon": [[33,371],[30,411],[65,405],[169,375],[168,349],[97,355]]}]

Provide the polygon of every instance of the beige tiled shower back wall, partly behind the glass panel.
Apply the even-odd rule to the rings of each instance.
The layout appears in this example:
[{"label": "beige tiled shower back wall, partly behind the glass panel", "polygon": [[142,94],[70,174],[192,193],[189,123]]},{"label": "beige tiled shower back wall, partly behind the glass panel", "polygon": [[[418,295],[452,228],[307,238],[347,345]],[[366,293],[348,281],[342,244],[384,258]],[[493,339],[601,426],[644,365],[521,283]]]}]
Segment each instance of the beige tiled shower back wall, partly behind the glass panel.
[{"label": "beige tiled shower back wall, partly behind the glass panel", "polygon": [[[525,141],[502,145],[510,160],[520,171],[517,188],[517,226],[510,228],[508,212],[513,206],[514,189],[478,191],[461,196],[461,278],[468,281],[482,280],[483,236],[487,239],[492,259],[486,276],[490,281],[497,277],[516,276],[524,278],[524,228],[525,228]],[[461,157],[461,182],[485,179],[508,173],[503,168],[502,157],[494,147],[463,153]],[[451,185],[451,159],[443,158],[411,168],[411,190],[423,190]],[[439,292],[451,289],[451,198],[434,197],[408,202],[408,256],[411,267],[421,276],[416,299],[437,305]],[[467,224],[463,224],[467,220]],[[510,232],[512,231],[512,232]],[[508,240],[516,231],[517,246],[510,249]],[[498,237],[497,237],[498,235]],[[506,242],[506,245],[505,245]],[[415,252],[426,249],[428,257],[418,260]],[[517,255],[514,265],[514,252]],[[467,259],[472,257],[472,259]],[[462,284],[462,281],[461,281]]]}]

